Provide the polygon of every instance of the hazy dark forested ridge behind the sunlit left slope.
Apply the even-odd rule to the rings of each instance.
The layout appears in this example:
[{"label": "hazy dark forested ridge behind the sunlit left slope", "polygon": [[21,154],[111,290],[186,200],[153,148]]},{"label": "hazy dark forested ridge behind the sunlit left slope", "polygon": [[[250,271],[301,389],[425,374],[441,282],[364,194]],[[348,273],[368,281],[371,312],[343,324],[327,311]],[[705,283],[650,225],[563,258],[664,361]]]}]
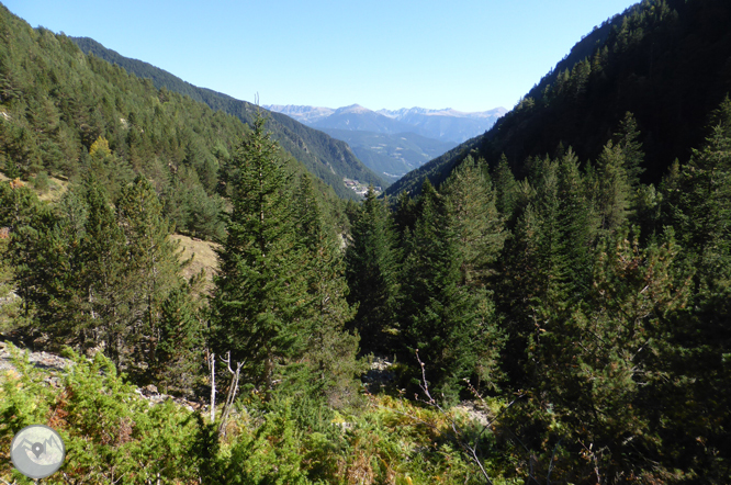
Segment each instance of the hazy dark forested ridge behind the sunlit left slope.
[{"label": "hazy dark forested ridge behind the sunlit left slope", "polygon": [[[92,38],[71,37],[71,41],[87,54],[93,54],[109,63],[121,66],[127,72],[137,77],[150,79],[158,89],[166,88],[188,95],[195,101],[207,104],[213,110],[233,114],[249,125],[255,117],[257,106],[251,103],[210,89],[198,88],[150,64],[131,59],[108,49]],[[262,111],[266,110],[262,109]],[[339,196],[346,199],[356,196],[353,191],[344,185],[344,177],[360,180],[366,184],[389,184],[387,181],[376,176],[358,160],[346,143],[330,138],[325,133],[305,126],[284,114],[273,111],[267,111],[267,113],[270,117],[268,129],[271,131],[274,139],[279,142],[282,148],[307,167],[311,173],[333,187]]]}]

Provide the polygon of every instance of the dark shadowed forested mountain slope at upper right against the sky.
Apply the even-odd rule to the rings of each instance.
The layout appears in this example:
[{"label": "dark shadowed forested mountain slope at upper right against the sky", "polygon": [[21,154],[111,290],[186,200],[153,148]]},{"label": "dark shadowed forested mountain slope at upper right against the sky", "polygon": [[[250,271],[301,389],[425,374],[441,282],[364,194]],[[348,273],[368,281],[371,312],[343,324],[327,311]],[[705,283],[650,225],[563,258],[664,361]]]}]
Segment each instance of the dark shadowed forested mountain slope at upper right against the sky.
[{"label": "dark shadowed forested mountain slope at upper right against the sky", "polygon": [[645,149],[644,182],[687,159],[705,121],[731,91],[731,4],[724,0],[644,0],[578,42],[484,136],[471,139],[392,185],[418,191],[443,181],[468,153],[495,166],[505,154],[516,176],[526,160],[559,144],[596,159],[617,123],[632,112]]}]

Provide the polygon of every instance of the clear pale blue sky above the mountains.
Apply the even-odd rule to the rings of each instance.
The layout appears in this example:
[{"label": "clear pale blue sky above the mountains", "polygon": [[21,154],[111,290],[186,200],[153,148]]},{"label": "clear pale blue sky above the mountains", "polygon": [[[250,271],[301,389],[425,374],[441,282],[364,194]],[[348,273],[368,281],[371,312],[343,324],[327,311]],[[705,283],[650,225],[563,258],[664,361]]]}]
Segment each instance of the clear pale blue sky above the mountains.
[{"label": "clear pale blue sky above the mountains", "polygon": [[195,86],[261,104],[513,108],[633,0],[1,0]]}]

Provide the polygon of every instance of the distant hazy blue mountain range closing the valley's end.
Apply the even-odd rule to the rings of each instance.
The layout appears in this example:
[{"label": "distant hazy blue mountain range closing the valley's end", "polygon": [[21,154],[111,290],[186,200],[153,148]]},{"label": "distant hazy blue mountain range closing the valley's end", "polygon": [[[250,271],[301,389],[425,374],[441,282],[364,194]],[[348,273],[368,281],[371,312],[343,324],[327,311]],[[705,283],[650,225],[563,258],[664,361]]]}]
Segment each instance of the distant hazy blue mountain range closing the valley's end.
[{"label": "distant hazy blue mountain range closing the valley's end", "polygon": [[482,135],[507,112],[504,108],[477,113],[424,108],[372,111],[359,104],[265,108],[346,142],[368,168],[390,181]]}]

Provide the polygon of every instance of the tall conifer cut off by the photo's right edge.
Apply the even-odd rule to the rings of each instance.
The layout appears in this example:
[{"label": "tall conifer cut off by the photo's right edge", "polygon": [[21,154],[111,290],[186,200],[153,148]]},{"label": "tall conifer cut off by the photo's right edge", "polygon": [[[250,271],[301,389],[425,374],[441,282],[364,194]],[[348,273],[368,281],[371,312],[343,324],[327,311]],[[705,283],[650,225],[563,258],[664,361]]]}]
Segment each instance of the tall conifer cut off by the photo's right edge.
[{"label": "tall conifer cut off by the photo's right edge", "polygon": [[[677,450],[712,460],[726,448],[731,426],[731,392],[728,382],[731,349],[731,101],[713,113],[710,134],[701,149],[679,172],[671,172],[668,215],[676,223],[683,244],[683,266],[676,279],[690,277],[691,296],[683,312],[668,318],[666,357],[682,399],[666,403],[682,426],[665,424],[679,436]],[[668,198],[670,199],[670,198]],[[678,283],[676,283],[678,284]],[[663,391],[667,390],[667,386]],[[661,393],[659,393],[661,394]],[[661,394],[662,395],[662,394]],[[694,409],[694,413],[688,413]],[[711,418],[712,417],[712,418]],[[694,441],[705,429],[702,447]],[[689,466],[691,464],[688,464]],[[718,472],[722,473],[719,464]],[[728,470],[728,467],[727,467]]]}]

